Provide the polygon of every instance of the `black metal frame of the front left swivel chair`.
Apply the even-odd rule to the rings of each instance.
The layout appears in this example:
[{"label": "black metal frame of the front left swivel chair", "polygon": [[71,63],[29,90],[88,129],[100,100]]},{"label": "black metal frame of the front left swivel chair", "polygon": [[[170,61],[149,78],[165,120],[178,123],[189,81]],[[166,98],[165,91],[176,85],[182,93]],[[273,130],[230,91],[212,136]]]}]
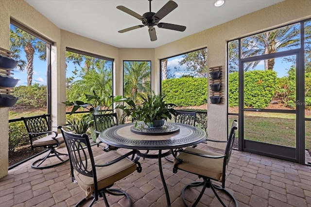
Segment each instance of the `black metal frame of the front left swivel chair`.
[{"label": "black metal frame of the front left swivel chair", "polygon": [[[95,203],[95,201],[98,201],[99,197],[103,197],[106,207],[109,207],[105,192],[111,195],[124,195],[128,200],[128,206],[131,206],[131,199],[129,195],[121,189],[112,189],[111,187],[114,185],[113,183],[111,185],[103,187],[102,189],[98,189],[96,167],[107,167],[121,161],[122,159],[130,159],[137,165],[136,170],[138,173],[140,173],[142,169],[140,163],[138,162],[138,159],[140,158],[140,152],[138,150],[132,150],[131,152],[120,155],[120,157],[105,162],[104,164],[96,164],[96,157],[93,157],[91,144],[89,143],[88,136],[86,134],[72,134],[70,132],[67,132],[64,127],[66,126],[58,126],[58,128],[61,129],[66,143],[66,147],[69,152],[71,180],[76,180],[73,173],[74,171],[88,177],[93,177],[94,180],[94,191],[91,193],[90,196],[93,197],[93,200],[91,201],[89,207],[91,207]],[[90,163],[87,160],[89,160]],[[88,166],[89,164],[91,165],[91,168]],[[76,207],[82,206],[84,202],[86,202],[90,197],[86,196],[85,198],[83,198],[76,204]]]}]

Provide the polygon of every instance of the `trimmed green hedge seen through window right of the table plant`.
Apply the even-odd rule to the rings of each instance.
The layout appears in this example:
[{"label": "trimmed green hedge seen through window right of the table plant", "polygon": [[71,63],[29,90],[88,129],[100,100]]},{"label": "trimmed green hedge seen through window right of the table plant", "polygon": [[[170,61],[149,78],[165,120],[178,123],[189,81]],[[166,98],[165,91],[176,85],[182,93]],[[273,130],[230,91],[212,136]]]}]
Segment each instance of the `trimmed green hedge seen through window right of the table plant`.
[{"label": "trimmed green hedge seen through window right of the table plant", "polygon": [[167,103],[177,106],[199,106],[207,103],[207,78],[179,78],[162,81]]}]

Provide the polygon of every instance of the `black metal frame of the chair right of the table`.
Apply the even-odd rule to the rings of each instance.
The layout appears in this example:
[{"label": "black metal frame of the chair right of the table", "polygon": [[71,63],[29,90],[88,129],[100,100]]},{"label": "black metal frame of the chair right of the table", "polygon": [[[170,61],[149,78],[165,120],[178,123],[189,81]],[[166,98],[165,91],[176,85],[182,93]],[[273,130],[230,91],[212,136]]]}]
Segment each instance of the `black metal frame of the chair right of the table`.
[{"label": "black metal frame of the chair right of the table", "polygon": [[[227,144],[226,144],[226,148],[225,148],[225,154],[222,155],[222,156],[211,156],[211,155],[206,155],[206,154],[198,154],[196,152],[192,152],[192,151],[187,151],[187,148],[184,150],[184,149],[179,149],[177,150],[173,155],[175,157],[175,163],[174,163],[174,166],[173,166],[173,173],[177,173],[177,170],[183,170],[183,169],[180,169],[178,168],[178,164],[182,163],[183,162],[183,159],[179,159],[178,158],[178,155],[177,153],[188,153],[188,154],[191,154],[191,155],[195,155],[195,156],[199,156],[199,157],[203,157],[203,158],[207,158],[207,159],[221,159],[221,158],[224,158],[224,162],[223,162],[223,170],[222,170],[222,179],[221,179],[221,186],[220,185],[217,185],[215,183],[213,183],[212,180],[216,180],[212,177],[207,177],[207,176],[204,176],[204,175],[198,175],[196,173],[193,173],[193,172],[189,172],[189,173],[192,173],[192,174],[195,174],[195,175],[198,175],[199,177],[202,177],[203,178],[203,181],[202,182],[192,182],[192,183],[189,183],[188,185],[186,185],[183,190],[182,190],[182,199],[183,199],[183,202],[184,204],[188,207],[187,205],[187,202],[186,202],[186,199],[185,199],[185,191],[190,188],[190,187],[197,187],[197,186],[201,186],[203,185],[203,188],[202,188],[202,191],[200,192],[199,196],[197,197],[197,199],[195,200],[194,204],[193,204],[193,207],[195,207],[198,202],[200,201],[201,197],[203,196],[203,193],[205,191],[206,188],[211,188],[211,190],[214,192],[215,196],[217,197],[217,199],[220,201],[220,203],[225,207],[225,203],[222,201],[222,199],[219,197],[218,193],[215,191],[215,189],[218,189],[220,191],[224,191],[227,195],[229,195],[231,197],[231,199],[233,200],[233,202],[235,203],[235,206],[238,207],[238,202],[237,200],[235,199],[235,197],[225,189],[225,172],[226,172],[226,168],[227,168],[227,165],[228,165],[228,162],[229,162],[229,159],[230,159],[230,156],[231,156],[231,152],[232,152],[232,148],[233,148],[233,143],[234,143],[234,139],[235,139],[235,133],[236,133],[236,130],[237,130],[237,120],[234,120],[233,123],[232,123],[232,127],[231,127],[231,130],[230,130],[230,134],[228,136],[228,139],[227,141],[225,141]],[[215,141],[215,140],[209,140],[209,141]],[[218,142],[218,141],[216,141]],[[185,170],[183,170],[185,171]],[[216,180],[218,181],[218,180]]]}]

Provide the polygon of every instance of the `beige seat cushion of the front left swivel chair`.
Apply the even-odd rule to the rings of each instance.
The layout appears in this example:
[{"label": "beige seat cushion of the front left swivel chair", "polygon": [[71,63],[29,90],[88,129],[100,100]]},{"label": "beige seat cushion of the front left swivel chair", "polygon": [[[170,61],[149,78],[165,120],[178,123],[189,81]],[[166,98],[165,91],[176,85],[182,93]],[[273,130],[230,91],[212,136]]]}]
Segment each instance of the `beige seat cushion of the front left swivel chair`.
[{"label": "beige seat cushion of the front left swivel chair", "polygon": [[[109,151],[102,155],[94,157],[95,164],[104,164],[120,157],[121,155],[116,151]],[[89,168],[91,170],[90,161],[88,160]],[[116,181],[130,175],[136,170],[136,164],[129,159],[122,159],[121,161],[114,163],[106,167],[96,167],[97,174],[97,186],[98,189],[103,189]],[[94,180],[93,177],[82,175],[74,170],[73,172],[76,181],[79,186],[86,191],[86,197],[88,198],[92,192],[94,192]]]}]

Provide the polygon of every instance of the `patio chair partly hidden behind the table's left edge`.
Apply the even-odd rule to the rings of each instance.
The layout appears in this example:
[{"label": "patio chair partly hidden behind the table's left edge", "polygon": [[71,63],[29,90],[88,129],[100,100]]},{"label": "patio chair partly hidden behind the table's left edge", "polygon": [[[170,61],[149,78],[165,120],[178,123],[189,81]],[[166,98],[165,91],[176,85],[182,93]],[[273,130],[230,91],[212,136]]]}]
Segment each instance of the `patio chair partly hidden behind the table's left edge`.
[{"label": "patio chair partly hidden behind the table's left edge", "polygon": [[98,139],[98,135],[102,131],[104,131],[106,128],[110,128],[110,127],[118,125],[117,113],[93,114],[93,117],[94,117],[94,123],[95,123],[94,131],[97,134],[97,139],[96,139],[96,142],[98,143],[97,146],[103,145],[104,146],[103,150],[105,152],[108,152],[110,150],[117,150],[118,147],[102,143]]}]

